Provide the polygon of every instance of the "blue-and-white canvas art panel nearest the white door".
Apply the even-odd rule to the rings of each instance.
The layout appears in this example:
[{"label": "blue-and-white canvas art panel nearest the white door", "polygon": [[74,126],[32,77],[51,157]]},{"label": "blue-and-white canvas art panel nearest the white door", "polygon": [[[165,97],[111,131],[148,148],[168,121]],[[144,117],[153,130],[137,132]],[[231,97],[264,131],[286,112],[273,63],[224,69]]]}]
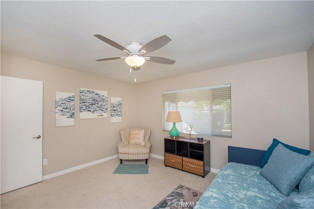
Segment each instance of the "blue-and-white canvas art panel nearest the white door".
[{"label": "blue-and-white canvas art panel nearest the white door", "polygon": [[55,127],[74,126],[75,93],[55,92]]}]

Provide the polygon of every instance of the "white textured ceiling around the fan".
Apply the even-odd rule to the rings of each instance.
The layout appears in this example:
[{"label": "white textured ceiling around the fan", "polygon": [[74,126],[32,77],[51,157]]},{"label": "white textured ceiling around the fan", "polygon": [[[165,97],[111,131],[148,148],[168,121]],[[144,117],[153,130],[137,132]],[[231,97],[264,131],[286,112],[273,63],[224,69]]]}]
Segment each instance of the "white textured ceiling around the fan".
[{"label": "white textured ceiling around the fan", "polygon": [[149,53],[176,60],[146,62],[145,82],[306,51],[314,42],[314,1],[0,1],[1,53],[134,82],[125,53],[94,34],[127,46],[167,35]]}]

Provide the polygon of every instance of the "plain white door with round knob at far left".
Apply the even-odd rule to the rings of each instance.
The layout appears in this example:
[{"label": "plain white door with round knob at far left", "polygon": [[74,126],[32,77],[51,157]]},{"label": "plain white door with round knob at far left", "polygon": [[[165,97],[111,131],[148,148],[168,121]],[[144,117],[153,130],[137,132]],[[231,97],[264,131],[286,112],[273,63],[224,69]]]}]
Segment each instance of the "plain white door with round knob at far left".
[{"label": "plain white door with round knob at far left", "polygon": [[0,90],[2,194],[43,180],[43,82],[1,76]]}]

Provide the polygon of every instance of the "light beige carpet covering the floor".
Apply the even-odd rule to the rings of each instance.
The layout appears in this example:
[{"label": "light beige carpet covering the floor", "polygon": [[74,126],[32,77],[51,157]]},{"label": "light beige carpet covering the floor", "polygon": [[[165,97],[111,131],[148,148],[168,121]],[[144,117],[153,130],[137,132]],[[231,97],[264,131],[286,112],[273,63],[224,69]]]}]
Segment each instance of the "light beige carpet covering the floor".
[{"label": "light beige carpet covering the floor", "polygon": [[204,192],[216,176],[165,167],[153,157],[148,174],[113,174],[119,162],[113,159],[4,193],[1,209],[152,209],[178,185]]}]

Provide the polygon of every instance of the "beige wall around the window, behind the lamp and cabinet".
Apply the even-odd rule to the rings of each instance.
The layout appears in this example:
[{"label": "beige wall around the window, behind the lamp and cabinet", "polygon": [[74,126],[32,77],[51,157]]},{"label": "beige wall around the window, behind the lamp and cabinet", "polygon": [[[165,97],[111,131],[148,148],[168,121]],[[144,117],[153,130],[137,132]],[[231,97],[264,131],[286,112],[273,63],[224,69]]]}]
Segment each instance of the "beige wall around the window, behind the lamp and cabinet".
[{"label": "beige wall around the window, behind the lamp and cabinet", "polygon": [[227,162],[228,145],[265,150],[277,138],[309,149],[307,73],[307,52],[302,52],[140,83],[136,123],[152,129],[151,152],[163,156],[169,133],[161,127],[161,92],[230,83],[233,137],[204,136],[210,140],[212,168]]}]

